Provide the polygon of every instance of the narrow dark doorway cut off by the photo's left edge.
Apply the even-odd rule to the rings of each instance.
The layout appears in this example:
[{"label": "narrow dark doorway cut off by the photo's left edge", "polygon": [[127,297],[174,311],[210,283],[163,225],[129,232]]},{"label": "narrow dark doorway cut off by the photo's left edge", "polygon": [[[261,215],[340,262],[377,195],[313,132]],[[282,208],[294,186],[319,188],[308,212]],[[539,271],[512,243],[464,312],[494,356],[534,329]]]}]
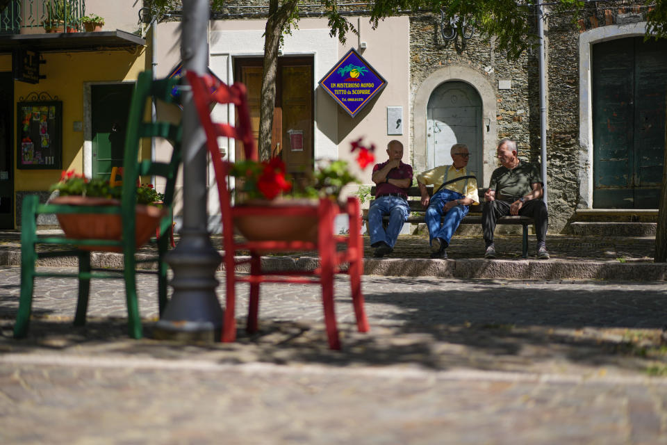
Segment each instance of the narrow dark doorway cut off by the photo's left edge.
[{"label": "narrow dark doorway cut off by the photo's left edge", "polygon": [[0,229],[14,228],[14,79],[0,72]]}]

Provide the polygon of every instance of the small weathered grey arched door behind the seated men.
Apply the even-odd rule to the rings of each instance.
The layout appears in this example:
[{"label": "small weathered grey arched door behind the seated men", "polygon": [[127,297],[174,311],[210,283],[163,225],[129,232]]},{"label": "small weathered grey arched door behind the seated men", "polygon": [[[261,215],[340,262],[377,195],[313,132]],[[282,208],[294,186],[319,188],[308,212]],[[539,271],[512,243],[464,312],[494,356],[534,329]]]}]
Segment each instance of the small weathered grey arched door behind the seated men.
[{"label": "small weathered grey arched door behind the seated men", "polygon": [[427,168],[451,164],[450,149],[468,145],[468,169],[484,184],[482,102],[469,83],[448,81],[436,88],[427,105]]}]

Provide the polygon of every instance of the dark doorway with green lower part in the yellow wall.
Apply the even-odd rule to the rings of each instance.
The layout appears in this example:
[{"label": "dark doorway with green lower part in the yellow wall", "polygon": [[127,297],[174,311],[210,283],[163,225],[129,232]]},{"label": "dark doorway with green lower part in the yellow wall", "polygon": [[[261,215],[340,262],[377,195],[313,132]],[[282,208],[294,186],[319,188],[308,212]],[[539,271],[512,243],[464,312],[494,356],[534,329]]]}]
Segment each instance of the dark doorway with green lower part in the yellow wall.
[{"label": "dark doorway with green lower part in the yellow wall", "polygon": [[133,83],[93,85],[91,97],[92,177],[108,179],[122,167],[125,131]]}]

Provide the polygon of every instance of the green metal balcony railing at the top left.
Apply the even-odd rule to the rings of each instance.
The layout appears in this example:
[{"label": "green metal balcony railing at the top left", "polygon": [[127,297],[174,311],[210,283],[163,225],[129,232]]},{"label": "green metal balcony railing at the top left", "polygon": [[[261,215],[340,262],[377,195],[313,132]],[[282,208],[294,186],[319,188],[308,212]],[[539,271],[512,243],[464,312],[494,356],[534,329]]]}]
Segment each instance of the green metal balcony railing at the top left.
[{"label": "green metal balcony railing at the top left", "polygon": [[0,0],[0,34],[77,31],[85,0]]}]

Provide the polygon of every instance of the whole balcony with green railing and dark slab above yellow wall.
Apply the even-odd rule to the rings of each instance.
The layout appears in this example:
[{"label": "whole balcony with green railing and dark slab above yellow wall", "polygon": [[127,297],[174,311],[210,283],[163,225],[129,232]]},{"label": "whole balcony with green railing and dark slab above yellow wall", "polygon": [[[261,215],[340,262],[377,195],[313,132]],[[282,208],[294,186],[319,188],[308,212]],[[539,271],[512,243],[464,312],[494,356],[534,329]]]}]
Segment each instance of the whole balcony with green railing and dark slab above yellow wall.
[{"label": "whole balcony with green railing and dark slab above yellow wall", "polygon": [[83,33],[85,0],[0,0],[0,53],[131,49],[145,40],[125,31]]}]

